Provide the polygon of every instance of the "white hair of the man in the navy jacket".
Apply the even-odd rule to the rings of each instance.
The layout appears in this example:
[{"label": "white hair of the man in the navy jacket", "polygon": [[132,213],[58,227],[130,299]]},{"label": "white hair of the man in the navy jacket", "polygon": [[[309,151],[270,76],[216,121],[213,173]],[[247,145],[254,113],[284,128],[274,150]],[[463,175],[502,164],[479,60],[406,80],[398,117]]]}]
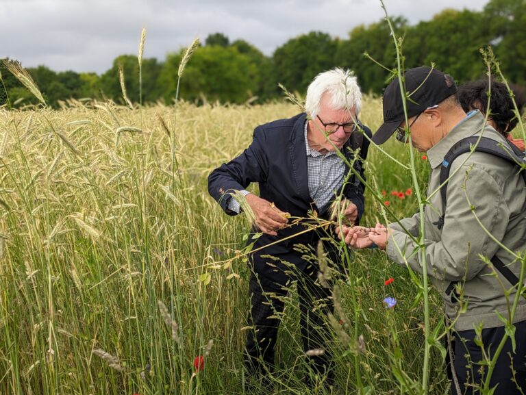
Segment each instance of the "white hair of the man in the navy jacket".
[{"label": "white hair of the man in the navy jacket", "polygon": [[307,89],[305,99],[305,110],[311,118],[318,115],[321,98],[325,93],[330,95],[329,104],[333,110],[354,107],[356,115],[360,113],[362,92],[352,71],[336,67],[316,75]]}]

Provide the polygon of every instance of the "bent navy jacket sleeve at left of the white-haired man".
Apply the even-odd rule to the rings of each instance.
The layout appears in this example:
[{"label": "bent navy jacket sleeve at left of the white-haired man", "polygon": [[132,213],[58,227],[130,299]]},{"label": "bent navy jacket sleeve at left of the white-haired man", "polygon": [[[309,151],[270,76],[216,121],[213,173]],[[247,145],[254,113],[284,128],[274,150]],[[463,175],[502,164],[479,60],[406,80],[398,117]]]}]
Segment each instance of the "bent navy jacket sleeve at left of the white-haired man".
[{"label": "bent navy jacket sleeve at left of the white-haired man", "polygon": [[244,190],[249,183],[265,181],[267,170],[266,139],[262,127],[257,127],[252,143],[241,155],[212,170],[208,176],[208,193],[227,214],[234,216],[238,213],[228,208],[229,193]]}]

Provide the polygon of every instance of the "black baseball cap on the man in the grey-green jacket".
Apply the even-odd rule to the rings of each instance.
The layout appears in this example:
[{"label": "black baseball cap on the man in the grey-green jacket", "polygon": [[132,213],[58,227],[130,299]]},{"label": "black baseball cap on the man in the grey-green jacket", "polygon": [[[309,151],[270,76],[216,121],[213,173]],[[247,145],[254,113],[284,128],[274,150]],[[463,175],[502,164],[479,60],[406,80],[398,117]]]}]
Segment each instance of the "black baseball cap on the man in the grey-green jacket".
[{"label": "black baseball cap on the man in the grey-green jacket", "polygon": [[[405,72],[405,90],[408,98],[408,117],[420,114],[428,107],[436,105],[457,92],[451,75],[429,66],[410,68]],[[384,124],[373,136],[375,144],[383,144],[395,133],[405,116],[403,115],[402,96],[399,78],[395,78],[384,92]]]}]

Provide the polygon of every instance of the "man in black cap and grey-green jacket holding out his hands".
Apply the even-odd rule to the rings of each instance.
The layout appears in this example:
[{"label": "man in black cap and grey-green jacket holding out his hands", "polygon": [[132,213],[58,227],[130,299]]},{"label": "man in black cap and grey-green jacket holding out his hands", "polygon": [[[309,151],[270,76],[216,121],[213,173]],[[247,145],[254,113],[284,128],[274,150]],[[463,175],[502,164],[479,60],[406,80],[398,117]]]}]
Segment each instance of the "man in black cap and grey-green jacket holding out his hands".
[{"label": "man in black cap and grey-green jacket holding out his hands", "polygon": [[[477,386],[484,384],[488,374],[486,362],[496,355],[505,335],[501,318],[509,320],[510,307],[518,298],[512,320],[515,344],[508,338],[499,351],[490,387],[497,386],[494,394],[524,394],[526,299],[517,294],[510,277],[481,257],[492,262],[499,259],[515,277],[519,276],[521,261],[510,251],[526,251],[525,180],[513,163],[501,157],[480,151],[464,153],[444,165],[451,169],[444,187],[447,205],[442,205],[442,196],[436,191],[440,190],[444,155],[451,147],[468,136],[484,135],[496,145],[505,144],[505,138],[478,110],[468,114],[462,110],[451,76],[434,68],[417,67],[404,77],[386,88],[384,124],[372,140],[382,144],[396,133],[397,140],[411,142],[427,152],[431,174],[423,232],[417,213],[388,227],[345,227],[340,238],[355,248],[377,246],[394,262],[415,272],[422,273],[426,266],[427,275],[442,292],[447,320],[454,322],[453,395],[479,394]],[[423,240],[419,240],[421,233]],[[425,250],[419,249],[422,245]],[[484,350],[477,345],[474,328],[481,330]]]}]

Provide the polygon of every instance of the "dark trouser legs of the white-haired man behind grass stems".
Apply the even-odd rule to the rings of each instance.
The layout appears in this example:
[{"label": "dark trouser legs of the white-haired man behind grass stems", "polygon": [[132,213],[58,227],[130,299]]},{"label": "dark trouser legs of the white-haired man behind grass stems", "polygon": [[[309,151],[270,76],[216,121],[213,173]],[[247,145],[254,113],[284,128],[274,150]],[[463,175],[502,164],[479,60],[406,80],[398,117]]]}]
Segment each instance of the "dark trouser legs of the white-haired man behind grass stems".
[{"label": "dark trouser legs of the white-haired man behind grass stems", "polygon": [[[332,311],[333,304],[329,298],[331,291],[315,283],[316,276],[317,271],[314,270],[297,275],[301,338],[305,351],[325,349],[323,355],[309,357],[309,362],[314,373],[319,373],[320,377],[327,375],[325,383],[330,385],[334,381],[334,374],[330,366],[329,350],[325,346],[328,333],[325,316]],[[287,292],[283,286],[266,277],[251,275],[251,311],[248,323],[252,329],[247,331],[245,349],[245,367],[251,377],[265,379],[266,374],[273,371],[277,331],[284,311],[283,298]],[[321,308],[317,308],[318,306]],[[306,380],[310,383],[309,377]]]}]

